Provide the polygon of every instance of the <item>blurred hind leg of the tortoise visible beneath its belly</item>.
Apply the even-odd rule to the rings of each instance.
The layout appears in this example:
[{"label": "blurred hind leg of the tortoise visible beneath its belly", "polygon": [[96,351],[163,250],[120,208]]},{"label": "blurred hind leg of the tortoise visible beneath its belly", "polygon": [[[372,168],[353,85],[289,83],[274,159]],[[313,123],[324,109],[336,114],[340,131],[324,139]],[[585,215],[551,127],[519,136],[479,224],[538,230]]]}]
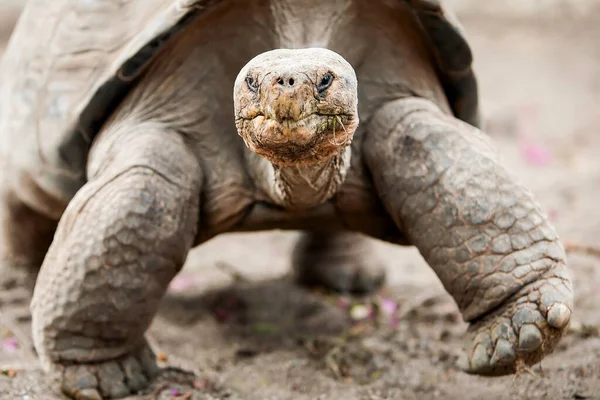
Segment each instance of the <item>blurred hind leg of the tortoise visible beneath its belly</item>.
[{"label": "blurred hind leg of the tortoise visible beneath its belly", "polygon": [[374,292],[385,281],[385,269],[370,240],[354,232],[303,234],[292,258],[297,281],[344,293]]}]

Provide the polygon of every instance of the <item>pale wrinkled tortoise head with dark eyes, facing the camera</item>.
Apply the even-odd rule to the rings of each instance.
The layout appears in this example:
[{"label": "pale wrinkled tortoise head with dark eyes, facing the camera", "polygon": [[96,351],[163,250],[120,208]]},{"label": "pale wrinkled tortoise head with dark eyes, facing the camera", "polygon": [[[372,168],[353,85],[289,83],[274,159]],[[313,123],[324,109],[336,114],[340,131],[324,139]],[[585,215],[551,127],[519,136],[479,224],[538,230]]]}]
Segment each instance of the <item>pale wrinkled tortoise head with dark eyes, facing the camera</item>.
[{"label": "pale wrinkled tortoise head with dark eyes, facing the camera", "polygon": [[316,164],[352,141],[359,121],[356,74],[330,50],[268,51],[238,74],[234,108],[250,150],[279,166]]}]

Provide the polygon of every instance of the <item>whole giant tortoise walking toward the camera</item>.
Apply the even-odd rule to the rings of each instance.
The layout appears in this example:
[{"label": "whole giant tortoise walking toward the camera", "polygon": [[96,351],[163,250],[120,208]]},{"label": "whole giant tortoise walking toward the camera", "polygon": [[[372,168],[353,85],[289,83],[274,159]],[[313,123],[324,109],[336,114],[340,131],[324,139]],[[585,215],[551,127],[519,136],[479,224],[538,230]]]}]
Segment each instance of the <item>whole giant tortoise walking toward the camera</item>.
[{"label": "whole giant tortoise walking toward the camera", "polygon": [[303,231],[298,282],[351,292],[384,281],[372,238],[416,246],[470,323],[465,371],[539,362],[565,253],[480,130],[472,61],[438,0],[30,0],[0,70],[0,274],[39,269],[44,369],[73,398],[142,389],[188,251],[268,229]]}]

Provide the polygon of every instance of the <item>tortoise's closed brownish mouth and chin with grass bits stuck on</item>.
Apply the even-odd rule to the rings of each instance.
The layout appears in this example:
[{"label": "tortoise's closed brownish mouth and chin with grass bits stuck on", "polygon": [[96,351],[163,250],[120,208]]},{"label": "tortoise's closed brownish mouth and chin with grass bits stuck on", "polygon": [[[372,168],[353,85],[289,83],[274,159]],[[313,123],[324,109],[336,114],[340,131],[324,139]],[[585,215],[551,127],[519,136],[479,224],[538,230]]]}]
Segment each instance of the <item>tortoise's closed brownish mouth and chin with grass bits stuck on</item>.
[{"label": "tortoise's closed brownish mouth and chin with grass bits stuck on", "polygon": [[246,146],[280,166],[310,165],[339,154],[353,139],[353,114],[313,113],[298,120],[263,114],[236,121]]}]

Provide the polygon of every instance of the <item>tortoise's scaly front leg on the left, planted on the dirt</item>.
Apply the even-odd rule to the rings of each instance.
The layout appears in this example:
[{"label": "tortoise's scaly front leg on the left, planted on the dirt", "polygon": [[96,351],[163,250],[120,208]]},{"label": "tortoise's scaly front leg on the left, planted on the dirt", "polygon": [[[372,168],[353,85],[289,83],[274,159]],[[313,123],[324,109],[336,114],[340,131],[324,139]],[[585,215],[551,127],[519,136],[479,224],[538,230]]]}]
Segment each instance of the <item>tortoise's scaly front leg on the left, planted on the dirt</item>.
[{"label": "tortoise's scaly front leg on the left, planted on the dirt", "polygon": [[75,399],[124,397],[155,374],[144,333],[193,245],[202,179],[172,132],[114,127],[95,146],[32,301],[42,365]]}]

